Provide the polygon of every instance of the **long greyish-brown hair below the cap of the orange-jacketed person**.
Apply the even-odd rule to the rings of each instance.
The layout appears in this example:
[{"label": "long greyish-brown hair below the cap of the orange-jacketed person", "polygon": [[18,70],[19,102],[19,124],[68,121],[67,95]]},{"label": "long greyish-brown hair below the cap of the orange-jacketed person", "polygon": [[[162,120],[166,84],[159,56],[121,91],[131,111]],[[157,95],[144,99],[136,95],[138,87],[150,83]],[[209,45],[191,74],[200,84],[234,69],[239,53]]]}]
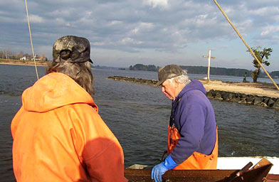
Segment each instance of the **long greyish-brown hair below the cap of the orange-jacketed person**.
[{"label": "long greyish-brown hair below the cap of the orange-jacketed person", "polygon": [[46,68],[46,74],[48,73],[64,73],[75,80],[75,82],[77,82],[80,87],[83,87],[90,95],[94,95],[94,77],[91,72],[91,64],[88,61],[84,63],[51,61]]}]

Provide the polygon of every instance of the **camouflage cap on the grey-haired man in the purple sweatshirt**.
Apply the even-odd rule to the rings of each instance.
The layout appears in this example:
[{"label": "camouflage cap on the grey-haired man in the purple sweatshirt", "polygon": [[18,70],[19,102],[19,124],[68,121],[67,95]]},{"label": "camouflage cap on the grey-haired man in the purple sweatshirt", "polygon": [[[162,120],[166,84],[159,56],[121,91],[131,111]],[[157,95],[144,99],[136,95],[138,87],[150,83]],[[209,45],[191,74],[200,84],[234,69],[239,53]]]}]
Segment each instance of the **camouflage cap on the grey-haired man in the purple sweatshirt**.
[{"label": "camouflage cap on the grey-haired man in the purple sweatshirt", "polygon": [[182,75],[184,71],[178,65],[166,65],[158,70],[158,82],[155,87],[162,85],[164,81],[172,77],[178,77]]}]

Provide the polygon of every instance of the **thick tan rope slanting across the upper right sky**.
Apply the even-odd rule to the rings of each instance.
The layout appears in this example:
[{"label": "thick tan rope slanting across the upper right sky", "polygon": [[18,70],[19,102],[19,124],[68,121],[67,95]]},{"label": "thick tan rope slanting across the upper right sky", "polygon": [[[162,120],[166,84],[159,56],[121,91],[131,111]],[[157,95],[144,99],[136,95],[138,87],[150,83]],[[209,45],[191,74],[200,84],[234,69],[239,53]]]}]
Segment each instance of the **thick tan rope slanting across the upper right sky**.
[{"label": "thick tan rope slanting across the upper right sky", "polygon": [[221,10],[223,16],[225,16],[226,20],[228,21],[228,23],[231,24],[231,26],[233,27],[233,30],[236,31],[237,35],[239,36],[239,38],[241,38],[241,41],[243,41],[243,43],[246,45],[246,48],[248,48],[248,50],[251,52],[251,54],[253,55],[253,57],[257,60],[258,64],[260,65],[261,68],[263,68],[263,70],[265,71],[266,75],[268,75],[268,77],[270,78],[270,80],[273,82],[273,85],[275,85],[275,87],[277,88],[277,90],[279,90],[278,85],[274,82],[273,78],[270,77],[270,75],[268,74],[268,72],[265,70],[265,68],[263,67],[263,65],[260,63],[260,61],[258,60],[258,58],[256,57],[256,55],[253,53],[253,51],[251,50],[251,48],[247,45],[246,41],[244,41],[244,39],[242,38],[241,34],[238,32],[238,30],[236,30],[236,28],[233,26],[233,23],[231,23],[230,19],[228,18],[228,16],[226,16],[225,12],[223,11],[223,9],[221,8],[221,6],[218,4],[218,2],[216,0],[213,0],[214,3],[218,6],[218,8]]}]

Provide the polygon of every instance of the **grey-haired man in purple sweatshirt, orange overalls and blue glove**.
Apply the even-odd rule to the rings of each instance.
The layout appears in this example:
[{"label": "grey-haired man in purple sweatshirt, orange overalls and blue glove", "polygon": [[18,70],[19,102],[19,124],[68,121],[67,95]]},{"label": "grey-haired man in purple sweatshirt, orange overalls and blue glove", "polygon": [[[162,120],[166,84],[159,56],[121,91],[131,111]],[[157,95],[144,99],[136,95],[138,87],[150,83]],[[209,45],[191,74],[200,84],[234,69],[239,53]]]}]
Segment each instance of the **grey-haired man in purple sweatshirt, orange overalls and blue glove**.
[{"label": "grey-haired man in purple sweatshirt, orange overalls and blue glove", "polygon": [[151,178],[162,181],[170,169],[214,169],[218,158],[218,134],[214,109],[204,85],[189,80],[178,65],[158,71],[157,86],[172,100],[169,120],[168,156],[152,168]]}]

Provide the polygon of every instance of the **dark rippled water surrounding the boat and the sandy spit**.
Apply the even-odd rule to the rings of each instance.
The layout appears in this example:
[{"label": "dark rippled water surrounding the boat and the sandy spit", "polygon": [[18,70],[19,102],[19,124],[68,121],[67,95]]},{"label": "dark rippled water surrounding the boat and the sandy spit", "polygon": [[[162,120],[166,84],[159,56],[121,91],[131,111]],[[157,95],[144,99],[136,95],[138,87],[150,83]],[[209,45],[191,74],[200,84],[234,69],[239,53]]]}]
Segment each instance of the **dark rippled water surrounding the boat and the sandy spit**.
[{"label": "dark rippled water surrounding the boat and the sandy spit", "polygon": [[[40,77],[44,70],[38,68]],[[98,69],[93,73],[94,100],[102,119],[122,145],[125,166],[157,164],[167,146],[171,102],[158,87],[106,79],[123,75],[157,80],[157,73]],[[190,78],[205,76],[190,75]],[[211,79],[242,81],[242,77],[214,75]],[[15,181],[11,119],[21,107],[21,93],[35,81],[35,69],[31,66],[0,65],[0,181]],[[278,110],[217,100],[211,103],[219,125],[219,156],[279,156]]]}]

